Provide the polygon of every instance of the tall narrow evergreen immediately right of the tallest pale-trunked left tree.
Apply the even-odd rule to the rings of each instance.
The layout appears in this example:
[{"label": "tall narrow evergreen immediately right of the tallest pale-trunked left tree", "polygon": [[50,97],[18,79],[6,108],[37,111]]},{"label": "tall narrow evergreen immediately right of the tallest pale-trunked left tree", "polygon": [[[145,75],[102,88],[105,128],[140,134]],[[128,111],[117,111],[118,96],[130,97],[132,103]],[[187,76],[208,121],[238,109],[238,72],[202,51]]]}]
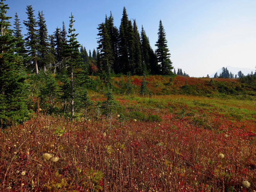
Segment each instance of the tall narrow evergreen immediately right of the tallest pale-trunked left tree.
[{"label": "tall narrow evergreen immediately right of the tallest pale-trunked left tree", "polygon": [[39,36],[39,44],[38,44],[38,54],[39,61],[43,66],[44,72],[46,72],[46,65],[52,63],[54,61],[53,55],[51,54],[50,44],[48,40],[48,32],[44,20],[43,12],[38,12],[38,36]]}]

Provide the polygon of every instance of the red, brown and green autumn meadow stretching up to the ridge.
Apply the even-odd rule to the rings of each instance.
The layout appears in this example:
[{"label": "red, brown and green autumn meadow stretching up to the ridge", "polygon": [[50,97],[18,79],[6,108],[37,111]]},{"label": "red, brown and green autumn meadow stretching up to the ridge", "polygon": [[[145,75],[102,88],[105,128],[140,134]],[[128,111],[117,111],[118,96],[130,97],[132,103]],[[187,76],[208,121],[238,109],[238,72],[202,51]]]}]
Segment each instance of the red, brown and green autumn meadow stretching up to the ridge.
[{"label": "red, brown and green autumn meadow stretching up to the ridge", "polygon": [[[113,90],[121,92],[118,79],[114,78]],[[134,90],[139,89],[136,79],[140,78],[132,79]],[[253,90],[237,91],[247,95],[244,100],[230,92],[228,99],[221,99],[218,89],[216,97],[202,96],[207,86],[224,82],[231,89],[242,83],[216,79],[210,85],[210,79],[199,78],[196,86],[205,85],[197,90],[200,96],[154,94],[170,82],[167,91],[180,86],[176,92],[183,92],[186,81],[192,86],[194,79],[149,76],[150,95],[116,93],[118,107],[111,122],[97,110],[91,110],[87,121],[82,115],[71,121],[67,116],[47,115],[43,108],[23,124],[10,124],[0,140],[2,190],[256,190]],[[95,91],[89,95],[93,103],[105,100]]]}]

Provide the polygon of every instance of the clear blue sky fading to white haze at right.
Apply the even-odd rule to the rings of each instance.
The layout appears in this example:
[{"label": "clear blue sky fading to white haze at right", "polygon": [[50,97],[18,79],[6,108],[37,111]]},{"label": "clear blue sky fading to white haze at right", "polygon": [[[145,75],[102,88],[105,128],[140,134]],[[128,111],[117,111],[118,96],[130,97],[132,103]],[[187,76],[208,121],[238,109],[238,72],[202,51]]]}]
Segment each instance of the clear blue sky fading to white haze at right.
[{"label": "clear blue sky fading to white haze at right", "polygon": [[[226,66],[255,72],[255,0],[6,0],[5,4],[10,7],[7,15],[14,18],[17,12],[20,21],[27,20],[27,5],[32,5],[36,17],[38,11],[43,11],[49,34],[62,27],[62,21],[68,29],[72,12],[77,39],[88,53],[97,48],[97,27],[105,15],[111,11],[119,28],[125,6],[129,19],[136,19],[139,31],[143,25],[154,50],[162,20],[176,70],[182,68],[195,77]],[[22,30],[26,33],[25,28]]]}]

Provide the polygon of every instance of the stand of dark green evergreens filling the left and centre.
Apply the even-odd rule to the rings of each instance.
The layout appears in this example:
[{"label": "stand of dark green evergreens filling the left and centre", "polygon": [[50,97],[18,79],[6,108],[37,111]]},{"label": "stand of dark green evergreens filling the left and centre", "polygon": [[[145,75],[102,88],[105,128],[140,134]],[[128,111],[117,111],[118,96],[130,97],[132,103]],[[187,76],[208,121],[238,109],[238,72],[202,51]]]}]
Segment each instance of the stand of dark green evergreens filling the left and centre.
[{"label": "stand of dark green evergreens filling the left and centre", "polygon": [[[71,13],[68,32],[64,22],[48,34],[44,13],[37,16],[31,5],[26,7],[26,27],[22,35],[21,22],[15,14],[12,24],[6,13],[5,0],[0,4],[0,119],[1,126],[11,122],[24,122],[34,110],[44,104],[48,113],[64,112],[74,117],[75,110],[86,113],[92,108],[88,89],[102,87],[106,100],[97,103],[107,116],[112,114],[113,93],[111,76],[128,74],[127,93],[132,90],[130,75],[144,75],[140,94],[147,92],[146,74],[172,75],[172,62],[162,21],[159,22],[157,49],[154,52],[142,27],[139,34],[136,21],[128,19],[124,8],[119,29],[113,24],[113,16],[105,18],[98,26],[97,51],[89,55],[79,44]],[[97,75],[96,79],[89,75]],[[98,79],[100,78],[100,79]],[[104,81],[105,84],[102,84]],[[57,106],[57,103],[62,105]]]}]

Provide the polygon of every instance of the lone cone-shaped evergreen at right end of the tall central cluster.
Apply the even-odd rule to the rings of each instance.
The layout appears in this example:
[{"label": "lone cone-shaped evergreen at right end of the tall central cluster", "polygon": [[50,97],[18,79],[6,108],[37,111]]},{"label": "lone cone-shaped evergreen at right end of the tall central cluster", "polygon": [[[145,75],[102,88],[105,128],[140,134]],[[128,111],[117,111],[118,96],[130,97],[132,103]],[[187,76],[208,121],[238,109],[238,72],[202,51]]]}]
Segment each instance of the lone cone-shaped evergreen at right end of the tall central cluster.
[{"label": "lone cone-shaped evergreen at right end of the tall central cluster", "polygon": [[170,58],[169,49],[167,48],[167,40],[165,38],[165,31],[162,21],[159,22],[158,40],[156,42],[156,56],[162,75],[172,75],[172,61]]}]

